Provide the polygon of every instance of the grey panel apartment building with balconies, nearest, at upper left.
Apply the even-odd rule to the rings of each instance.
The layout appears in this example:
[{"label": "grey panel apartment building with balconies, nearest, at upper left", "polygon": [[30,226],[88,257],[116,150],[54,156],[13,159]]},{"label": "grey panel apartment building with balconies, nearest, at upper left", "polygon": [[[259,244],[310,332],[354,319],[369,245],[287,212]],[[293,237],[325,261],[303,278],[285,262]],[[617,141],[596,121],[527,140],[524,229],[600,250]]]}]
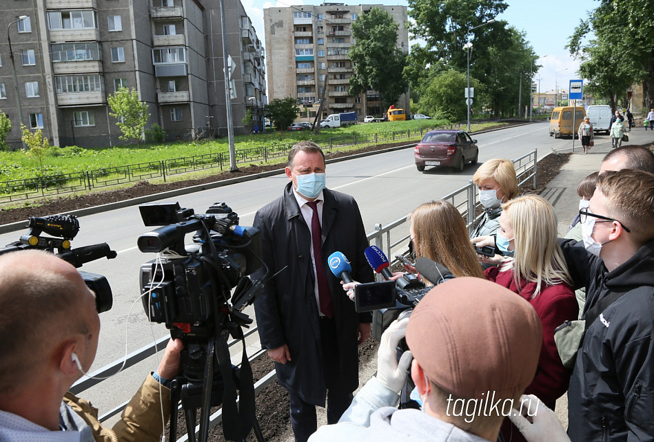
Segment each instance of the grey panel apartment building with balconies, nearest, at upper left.
[{"label": "grey panel apartment building with balconies, nearest, at upper left", "polygon": [[[0,43],[0,110],[12,121],[12,146],[21,145],[21,121],[56,146],[124,144],[107,102],[121,86],[136,88],[149,108],[146,128],[158,123],[170,140],[227,134],[218,0],[3,5],[0,28],[8,41]],[[241,123],[247,109],[263,123],[265,52],[241,1],[225,0],[225,17],[238,134],[249,131]]]}]

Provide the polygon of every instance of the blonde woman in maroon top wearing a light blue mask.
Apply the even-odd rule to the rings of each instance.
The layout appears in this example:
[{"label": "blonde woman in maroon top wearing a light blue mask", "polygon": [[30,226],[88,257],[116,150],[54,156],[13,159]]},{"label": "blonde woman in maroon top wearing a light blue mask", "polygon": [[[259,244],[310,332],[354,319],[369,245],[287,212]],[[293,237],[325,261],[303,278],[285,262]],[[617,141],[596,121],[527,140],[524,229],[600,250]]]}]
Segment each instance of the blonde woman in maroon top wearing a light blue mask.
[{"label": "blonde woman in maroon top wearing a light blue mask", "polygon": [[[502,204],[500,229],[493,237],[478,240],[478,246],[493,245],[511,257],[484,272],[489,280],[518,293],[533,306],[543,329],[538,370],[524,394],[535,394],[548,407],[568,388],[570,372],[564,368],[554,343],[554,329],[577,319],[578,305],[571,277],[557,242],[557,220],[552,205],[540,196],[520,196]],[[520,439],[520,432],[507,423],[505,440]],[[512,439],[507,439],[511,436]]]}]

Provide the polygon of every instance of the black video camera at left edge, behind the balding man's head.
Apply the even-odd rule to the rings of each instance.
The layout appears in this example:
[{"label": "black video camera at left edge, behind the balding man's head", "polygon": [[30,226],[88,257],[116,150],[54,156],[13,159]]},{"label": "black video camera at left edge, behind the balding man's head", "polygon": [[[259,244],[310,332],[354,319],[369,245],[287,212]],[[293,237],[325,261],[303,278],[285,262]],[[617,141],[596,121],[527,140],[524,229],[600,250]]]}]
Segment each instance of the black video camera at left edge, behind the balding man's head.
[{"label": "black video camera at left edge, behind the balding man's head", "polygon": [[[70,248],[70,242],[79,232],[79,221],[75,215],[50,215],[43,218],[30,216],[28,225],[30,231],[27,235],[21,235],[18,241],[7,244],[0,249],[0,255],[26,249],[37,249],[54,253],[57,249],[57,257],[72,264],[79,269],[83,264],[106,257],[111,260],[116,257],[106,242],[93,244],[91,246]],[[47,233],[51,236],[43,236]],[[59,238],[52,238],[59,237]],[[110,310],[113,304],[111,287],[107,278],[96,273],[79,271],[86,286],[95,293],[95,304],[98,313]]]}]

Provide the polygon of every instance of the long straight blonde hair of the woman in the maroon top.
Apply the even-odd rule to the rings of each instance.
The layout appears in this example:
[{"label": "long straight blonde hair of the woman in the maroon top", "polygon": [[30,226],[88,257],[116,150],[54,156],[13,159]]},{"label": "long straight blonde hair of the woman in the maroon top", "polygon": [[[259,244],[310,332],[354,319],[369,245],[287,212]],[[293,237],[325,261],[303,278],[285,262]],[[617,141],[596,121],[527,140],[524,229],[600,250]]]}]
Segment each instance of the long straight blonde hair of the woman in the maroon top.
[{"label": "long straight blonde hair of the woman in the maroon top", "polygon": [[557,221],[548,200],[525,195],[502,204],[502,211],[513,228],[515,253],[513,260],[502,265],[502,271],[513,270],[513,281],[535,282],[534,296],[542,284],[572,284],[563,253],[558,244]]}]

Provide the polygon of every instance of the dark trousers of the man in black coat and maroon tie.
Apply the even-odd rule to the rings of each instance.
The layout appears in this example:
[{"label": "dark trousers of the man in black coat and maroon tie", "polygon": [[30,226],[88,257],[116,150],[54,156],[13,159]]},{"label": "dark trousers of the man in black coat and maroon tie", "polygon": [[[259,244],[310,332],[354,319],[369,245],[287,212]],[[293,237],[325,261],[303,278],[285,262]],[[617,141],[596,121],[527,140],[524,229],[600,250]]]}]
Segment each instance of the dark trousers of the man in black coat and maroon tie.
[{"label": "dark trousers of the man in black coat and maroon tie", "polygon": [[[339,358],[334,319],[320,319],[320,344],[323,348],[323,373],[327,386],[327,423],[336,423],[352,403],[352,392],[340,388]],[[291,425],[297,442],[305,442],[318,429],[316,406],[290,392]]]}]

